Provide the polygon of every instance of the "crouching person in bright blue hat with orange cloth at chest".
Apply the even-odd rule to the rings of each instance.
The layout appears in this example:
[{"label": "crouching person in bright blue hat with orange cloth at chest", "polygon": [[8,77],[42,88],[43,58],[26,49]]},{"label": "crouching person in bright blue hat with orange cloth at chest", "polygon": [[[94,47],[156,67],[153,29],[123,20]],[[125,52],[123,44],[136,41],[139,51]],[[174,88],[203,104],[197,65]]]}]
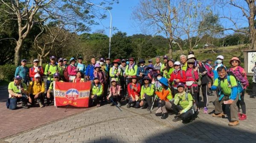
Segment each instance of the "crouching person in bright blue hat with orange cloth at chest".
[{"label": "crouching person in bright blue hat with orange cloth at chest", "polygon": [[168,79],[162,77],[159,82],[162,85],[162,89],[155,92],[159,97],[159,108],[157,109],[156,116],[162,116],[161,119],[166,119],[168,117],[167,109],[172,109],[172,104],[170,102],[172,100],[172,92],[168,87]]}]

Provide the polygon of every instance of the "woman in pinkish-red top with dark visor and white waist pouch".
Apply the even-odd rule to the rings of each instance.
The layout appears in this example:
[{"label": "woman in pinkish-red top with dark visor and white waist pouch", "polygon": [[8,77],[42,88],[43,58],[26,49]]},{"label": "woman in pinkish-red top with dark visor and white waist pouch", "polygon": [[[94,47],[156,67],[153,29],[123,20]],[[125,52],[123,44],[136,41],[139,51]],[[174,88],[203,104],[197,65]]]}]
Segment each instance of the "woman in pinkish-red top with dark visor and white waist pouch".
[{"label": "woman in pinkish-red top with dark visor and white waist pouch", "polygon": [[187,61],[188,68],[186,70],[186,86],[190,90],[191,95],[195,98],[196,106],[199,104],[199,95],[198,95],[198,67],[195,66],[195,59],[189,59]]}]

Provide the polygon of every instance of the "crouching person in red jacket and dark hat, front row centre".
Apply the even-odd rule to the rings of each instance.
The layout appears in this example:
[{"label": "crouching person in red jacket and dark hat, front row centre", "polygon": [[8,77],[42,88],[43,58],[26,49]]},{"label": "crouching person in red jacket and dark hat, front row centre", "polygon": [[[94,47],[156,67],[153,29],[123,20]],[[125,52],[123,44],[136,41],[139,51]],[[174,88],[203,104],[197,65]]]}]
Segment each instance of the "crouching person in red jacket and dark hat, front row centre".
[{"label": "crouching person in red jacket and dark hat, front row centre", "polygon": [[131,76],[131,83],[128,84],[127,90],[129,97],[127,108],[130,108],[131,104],[135,108],[140,108],[140,84],[137,83],[137,76]]}]

